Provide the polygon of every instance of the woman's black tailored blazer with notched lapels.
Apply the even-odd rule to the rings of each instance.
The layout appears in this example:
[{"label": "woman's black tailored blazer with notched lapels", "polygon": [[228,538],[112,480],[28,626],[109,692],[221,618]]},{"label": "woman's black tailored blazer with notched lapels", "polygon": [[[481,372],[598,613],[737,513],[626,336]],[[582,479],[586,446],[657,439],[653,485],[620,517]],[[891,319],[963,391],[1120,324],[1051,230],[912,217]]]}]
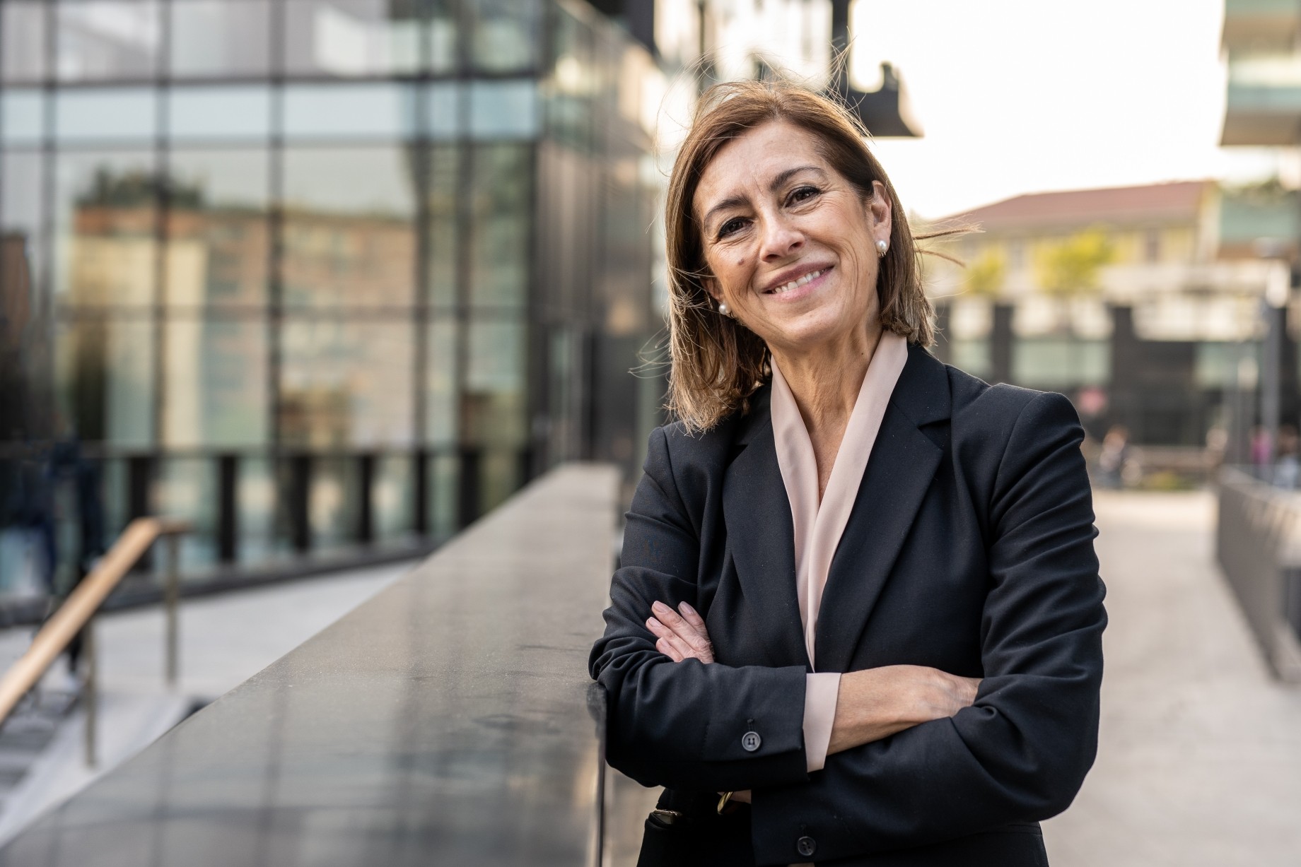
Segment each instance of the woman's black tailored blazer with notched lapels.
[{"label": "woman's black tailored blazer with notched lapels", "polygon": [[[1097,751],[1106,625],[1073,407],[909,346],[831,562],[817,669],[984,681],[956,716],[808,773],[811,668],[768,393],[705,434],[650,435],[591,656],[609,763],[682,803],[752,789],[748,828],[713,863],[1046,864],[1037,820],[1071,803]],[[700,611],[717,664],[654,649],[656,599]]]}]

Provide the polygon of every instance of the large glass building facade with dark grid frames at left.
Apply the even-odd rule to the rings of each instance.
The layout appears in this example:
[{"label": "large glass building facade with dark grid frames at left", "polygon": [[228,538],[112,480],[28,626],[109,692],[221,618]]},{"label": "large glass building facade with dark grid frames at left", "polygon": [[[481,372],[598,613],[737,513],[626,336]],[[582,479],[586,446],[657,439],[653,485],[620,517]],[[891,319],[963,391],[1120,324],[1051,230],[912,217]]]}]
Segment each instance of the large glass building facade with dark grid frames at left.
[{"label": "large glass building facade with dark grid frames at left", "polygon": [[[108,539],[195,523],[191,576],[634,467],[656,75],[578,3],[0,0],[10,523],[60,442]],[[51,490],[66,581],[86,494]]]}]

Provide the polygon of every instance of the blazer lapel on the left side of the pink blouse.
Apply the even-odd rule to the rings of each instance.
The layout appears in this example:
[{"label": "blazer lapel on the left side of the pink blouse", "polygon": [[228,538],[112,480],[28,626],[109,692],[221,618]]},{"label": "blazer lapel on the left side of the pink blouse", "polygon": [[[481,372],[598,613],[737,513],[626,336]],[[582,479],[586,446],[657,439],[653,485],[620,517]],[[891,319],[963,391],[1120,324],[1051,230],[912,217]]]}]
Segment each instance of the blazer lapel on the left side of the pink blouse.
[{"label": "blazer lapel on the left side of the pink blouse", "polygon": [[743,450],[723,477],[723,520],[747,610],[778,666],[809,668],[795,594],[795,525],[777,464],[768,389],[738,435]]}]

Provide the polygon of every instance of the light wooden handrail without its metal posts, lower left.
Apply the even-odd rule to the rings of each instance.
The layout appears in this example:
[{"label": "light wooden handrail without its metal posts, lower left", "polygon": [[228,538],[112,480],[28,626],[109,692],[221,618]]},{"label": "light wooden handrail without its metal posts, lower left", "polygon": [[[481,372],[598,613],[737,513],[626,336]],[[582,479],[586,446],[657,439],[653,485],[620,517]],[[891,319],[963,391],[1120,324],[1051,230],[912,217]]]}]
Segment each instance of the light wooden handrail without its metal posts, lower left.
[{"label": "light wooden handrail without its metal posts, lower left", "polygon": [[82,578],[59,611],[40,628],[31,646],[0,679],[0,723],[9,718],[14,706],[35,686],[46,671],[59,659],[77,633],[90,621],[99,607],[121,582],[135,562],[160,536],[189,532],[190,525],[163,517],[138,517],[127,524],[95,568]]}]

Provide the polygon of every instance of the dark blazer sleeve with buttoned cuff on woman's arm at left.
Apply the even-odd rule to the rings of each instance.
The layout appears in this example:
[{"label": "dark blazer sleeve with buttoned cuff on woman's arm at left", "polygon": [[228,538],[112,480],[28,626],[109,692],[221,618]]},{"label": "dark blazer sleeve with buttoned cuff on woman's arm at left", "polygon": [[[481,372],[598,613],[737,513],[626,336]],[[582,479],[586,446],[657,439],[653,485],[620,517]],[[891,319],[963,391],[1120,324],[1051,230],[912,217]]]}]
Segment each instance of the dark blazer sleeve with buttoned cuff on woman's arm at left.
[{"label": "dark blazer sleeve with buttoned cuff on woman's arm at left", "polygon": [[[665,430],[648,443],[592,677],[609,701],[606,760],[643,785],[734,790],[808,780],[803,667],[674,663],[647,629],[650,603],[696,604],[700,538]],[[744,738],[749,732],[758,734]],[[744,741],[743,741],[744,738]]]}]

